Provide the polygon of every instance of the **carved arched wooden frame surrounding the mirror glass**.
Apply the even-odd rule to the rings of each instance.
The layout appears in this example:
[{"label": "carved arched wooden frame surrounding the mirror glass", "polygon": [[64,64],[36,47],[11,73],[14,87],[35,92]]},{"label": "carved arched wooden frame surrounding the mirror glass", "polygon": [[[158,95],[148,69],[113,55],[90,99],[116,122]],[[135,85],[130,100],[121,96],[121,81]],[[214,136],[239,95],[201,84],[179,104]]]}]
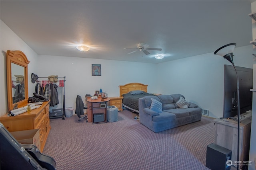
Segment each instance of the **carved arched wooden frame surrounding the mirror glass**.
[{"label": "carved arched wooden frame surrounding the mirror glass", "polygon": [[17,102],[18,107],[24,106],[28,103],[28,61],[26,55],[22,51],[10,51],[6,53],[6,69],[7,69],[7,96],[8,96],[8,110],[12,110],[15,104],[12,102],[12,63],[24,67],[24,92],[25,99]]}]

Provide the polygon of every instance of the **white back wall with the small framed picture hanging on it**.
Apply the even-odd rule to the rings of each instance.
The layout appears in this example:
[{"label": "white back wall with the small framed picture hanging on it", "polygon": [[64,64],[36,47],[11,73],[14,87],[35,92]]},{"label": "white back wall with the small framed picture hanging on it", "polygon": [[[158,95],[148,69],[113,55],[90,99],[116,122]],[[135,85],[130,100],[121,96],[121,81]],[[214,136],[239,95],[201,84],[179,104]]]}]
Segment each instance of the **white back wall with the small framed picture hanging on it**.
[{"label": "white back wall with the small framed picture hanging on it", "polygon": [[[93,95],[95,90],[100,88],[107,92],[109,97],[119,96],[119,85],[131,82],[148,84],[148,92],[156,92],[156,64],[46,55],[39,55],[36,63],[34,73],[39,77],[66,76],[66,107],[75,108],[77,95],[85,101],[86,94]],[[101,64],[101,76],[92,76],[92,64]],[[58,88],[58,92],[62,102],[63,90]],[[62,108],[62,103],[54,108]]]}]

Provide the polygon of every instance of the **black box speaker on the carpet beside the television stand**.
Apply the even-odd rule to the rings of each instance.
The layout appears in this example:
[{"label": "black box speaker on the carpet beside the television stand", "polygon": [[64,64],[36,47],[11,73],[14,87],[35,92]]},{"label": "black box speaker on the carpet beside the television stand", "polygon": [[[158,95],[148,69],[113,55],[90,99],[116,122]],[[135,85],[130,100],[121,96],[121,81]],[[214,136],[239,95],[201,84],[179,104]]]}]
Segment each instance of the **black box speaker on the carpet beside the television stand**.
[{"label": "black box speaker on the carpet beside the television stand", "polygon": [[230,170],[230,166],[226,162],[227,160],[231,160],[231,154],[231,150],[214,143],[208,145],[206,151],[206,167],[211,170]]}]

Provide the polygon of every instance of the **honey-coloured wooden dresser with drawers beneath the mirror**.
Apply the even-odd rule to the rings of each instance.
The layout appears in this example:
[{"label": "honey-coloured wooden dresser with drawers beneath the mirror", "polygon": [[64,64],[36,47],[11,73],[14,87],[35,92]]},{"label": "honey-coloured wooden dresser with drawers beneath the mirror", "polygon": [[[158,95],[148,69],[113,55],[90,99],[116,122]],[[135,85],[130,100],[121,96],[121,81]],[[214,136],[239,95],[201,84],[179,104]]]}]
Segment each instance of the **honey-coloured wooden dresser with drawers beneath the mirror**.
[{"label": "honey-coloured wooden dresser with drawers beneath the mirror", "polygon": [[40,151],[43,152],[46,139],[51,126],[49,119],[49,102],[43,102],[42,106],[20,115],[10,116],[7,114],[0,117],[1,123],[9,132],[29,129],[40,129]]}]

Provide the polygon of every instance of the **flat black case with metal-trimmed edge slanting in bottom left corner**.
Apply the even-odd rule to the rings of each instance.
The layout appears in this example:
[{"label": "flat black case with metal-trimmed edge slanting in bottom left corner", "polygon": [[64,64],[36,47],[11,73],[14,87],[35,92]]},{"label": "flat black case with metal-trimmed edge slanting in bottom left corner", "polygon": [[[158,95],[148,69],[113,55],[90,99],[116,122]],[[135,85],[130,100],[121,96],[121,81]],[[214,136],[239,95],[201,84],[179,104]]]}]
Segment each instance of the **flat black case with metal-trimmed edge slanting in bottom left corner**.
[{"label": "flat black case with metal-trimmed edge slanting in bottom left corner", "polygon": [[46,170],[0,123],[1,170]]}]

